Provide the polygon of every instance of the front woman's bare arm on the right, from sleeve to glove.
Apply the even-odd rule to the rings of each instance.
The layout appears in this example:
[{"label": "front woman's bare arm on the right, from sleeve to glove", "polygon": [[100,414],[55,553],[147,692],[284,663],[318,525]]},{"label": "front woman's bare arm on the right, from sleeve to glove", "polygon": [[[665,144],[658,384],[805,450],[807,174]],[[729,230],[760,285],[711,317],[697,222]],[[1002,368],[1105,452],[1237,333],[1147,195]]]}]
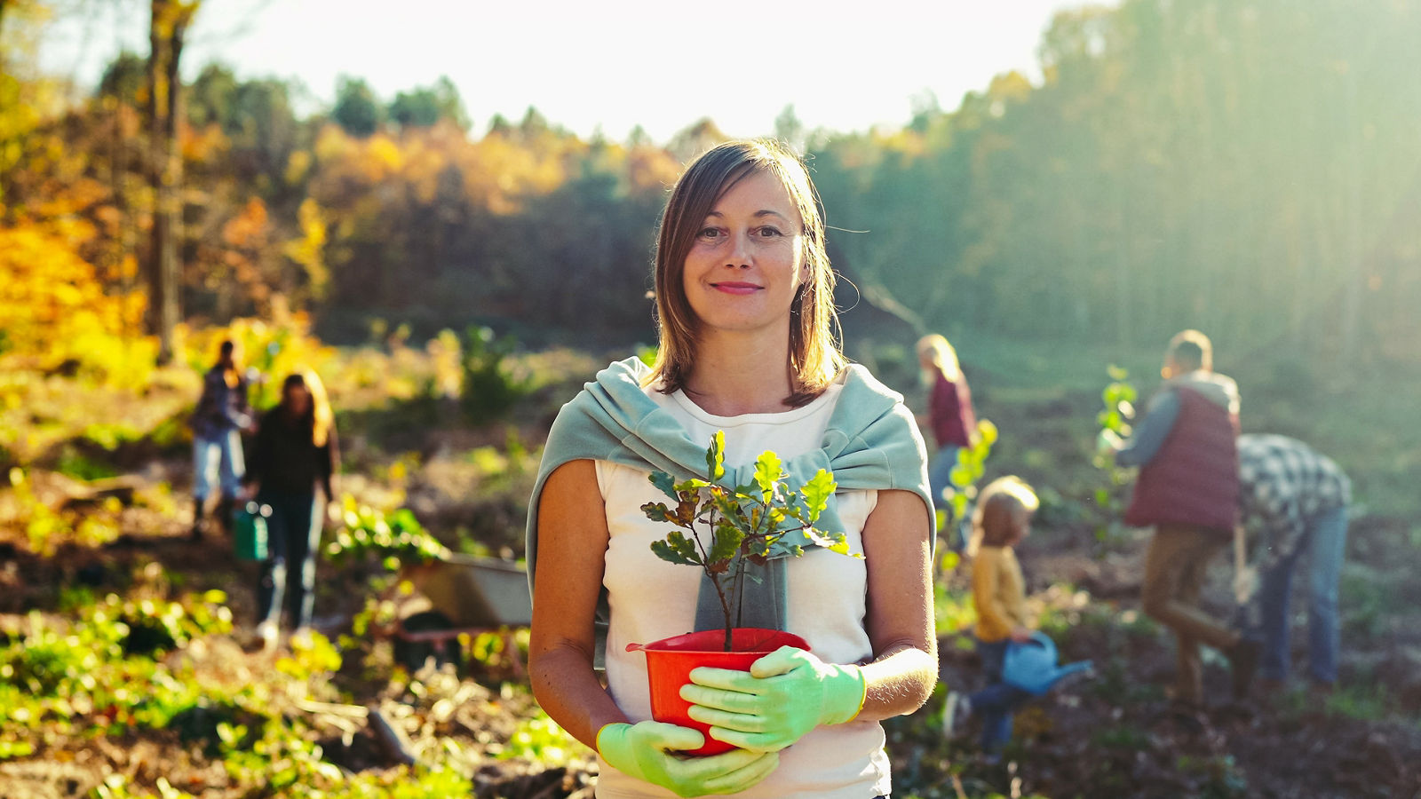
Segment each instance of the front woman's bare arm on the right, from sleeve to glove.
[{"label": "front woman's bare arm on the right, from sleeve to glove", "polygon": [[878,506],[864,525],[874,660],[863,667],[867,694],[857,718],[911,714],[938,681],[928,529],[928,508],[918,495],[878,492]]}]

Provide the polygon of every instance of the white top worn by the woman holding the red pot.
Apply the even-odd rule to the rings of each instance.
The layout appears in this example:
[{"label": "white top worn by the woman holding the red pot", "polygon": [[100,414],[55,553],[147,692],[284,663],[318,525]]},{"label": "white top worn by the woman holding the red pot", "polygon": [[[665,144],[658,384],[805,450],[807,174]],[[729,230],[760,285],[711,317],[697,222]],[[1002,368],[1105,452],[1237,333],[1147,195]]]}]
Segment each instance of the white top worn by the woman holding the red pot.
[{"label": "white top worn by the woman holding the red pot", "polygon": [[[773,449],[789,461],[818,446],[841,385],[809,405],[780,414],[716,417],[682,392],[647,390],[691,434],[708,445],[725,431],[728,465],[750,463]],[[651,542],[665,537],[668,525],[641,512],[665,496],[648,481],[648,469],[597,461],[597,485],[607,508],[607,587],[611,623],[607,633],[607,681],[617,707],[635,721],[651,718],[647,655],[627,644],[645,644],[693,628],[701,569],[659,560]],[[684,476],[684,475],[678,475]],[[838,516],[853,552],[863,553],[863,529],[878,500],[875,490],[837,493]],[[787,628],[809,641],[826,663],[867,663],[872,645],[864,630],[868,573],[863,559],[814,549],[790,559],[787,567]],[[669,799],[669,790],[630,778],[600,762],[597,796],[604,799]],[[884,731],[877,721],[818,726],[780,752],[779,768],[759,785],[736,793],[746,799],[871,799],[890,793]]]}]

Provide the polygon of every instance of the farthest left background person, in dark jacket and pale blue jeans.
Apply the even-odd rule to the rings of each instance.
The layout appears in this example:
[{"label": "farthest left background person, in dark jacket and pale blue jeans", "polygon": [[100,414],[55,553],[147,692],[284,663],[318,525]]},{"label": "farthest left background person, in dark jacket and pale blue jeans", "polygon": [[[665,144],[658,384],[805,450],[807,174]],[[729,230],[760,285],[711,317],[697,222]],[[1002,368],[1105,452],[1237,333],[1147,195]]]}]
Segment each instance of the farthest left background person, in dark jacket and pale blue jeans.
[{"label": "farthest left background person, in dark jacket and pale blue jeans", "polygon": [[[252,428],[247,378],[237,367],[237,347],[230,338],[217,348],[217,363],[202,380],[202,397],[192,427],[192,537],[202,537],[203,516],[213,483],[220,485],[217,519],[230,523],[232,502],[242,493],[246,465],[242,431]],[[220,482],[219,482],[220,481]]]}]

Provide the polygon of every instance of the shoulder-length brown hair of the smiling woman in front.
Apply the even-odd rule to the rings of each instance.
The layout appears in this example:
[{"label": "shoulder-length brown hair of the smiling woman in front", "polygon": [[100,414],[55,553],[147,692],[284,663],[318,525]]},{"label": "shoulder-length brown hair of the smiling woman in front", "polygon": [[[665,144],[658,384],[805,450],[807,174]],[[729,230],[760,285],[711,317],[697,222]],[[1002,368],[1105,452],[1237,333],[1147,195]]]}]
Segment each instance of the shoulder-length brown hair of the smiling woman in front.
[{"label": "shoulder-length brown hair of the smiling woman in front", "polygon": [[809,279],[790,306],[790,385],[784,404],[818,397],[844,368],[834,309],[834,270],[824,250],[818,192],[800,159],[779,142],[733,141],[706,151],[671,189],[657,233],[657,324],[661,344],[648,385],[671,394],[685,388],[695,360],[699,320],[686,299],[682,274],[696,233],[715,203],[747,175],[774,175],[799,209]]}]

